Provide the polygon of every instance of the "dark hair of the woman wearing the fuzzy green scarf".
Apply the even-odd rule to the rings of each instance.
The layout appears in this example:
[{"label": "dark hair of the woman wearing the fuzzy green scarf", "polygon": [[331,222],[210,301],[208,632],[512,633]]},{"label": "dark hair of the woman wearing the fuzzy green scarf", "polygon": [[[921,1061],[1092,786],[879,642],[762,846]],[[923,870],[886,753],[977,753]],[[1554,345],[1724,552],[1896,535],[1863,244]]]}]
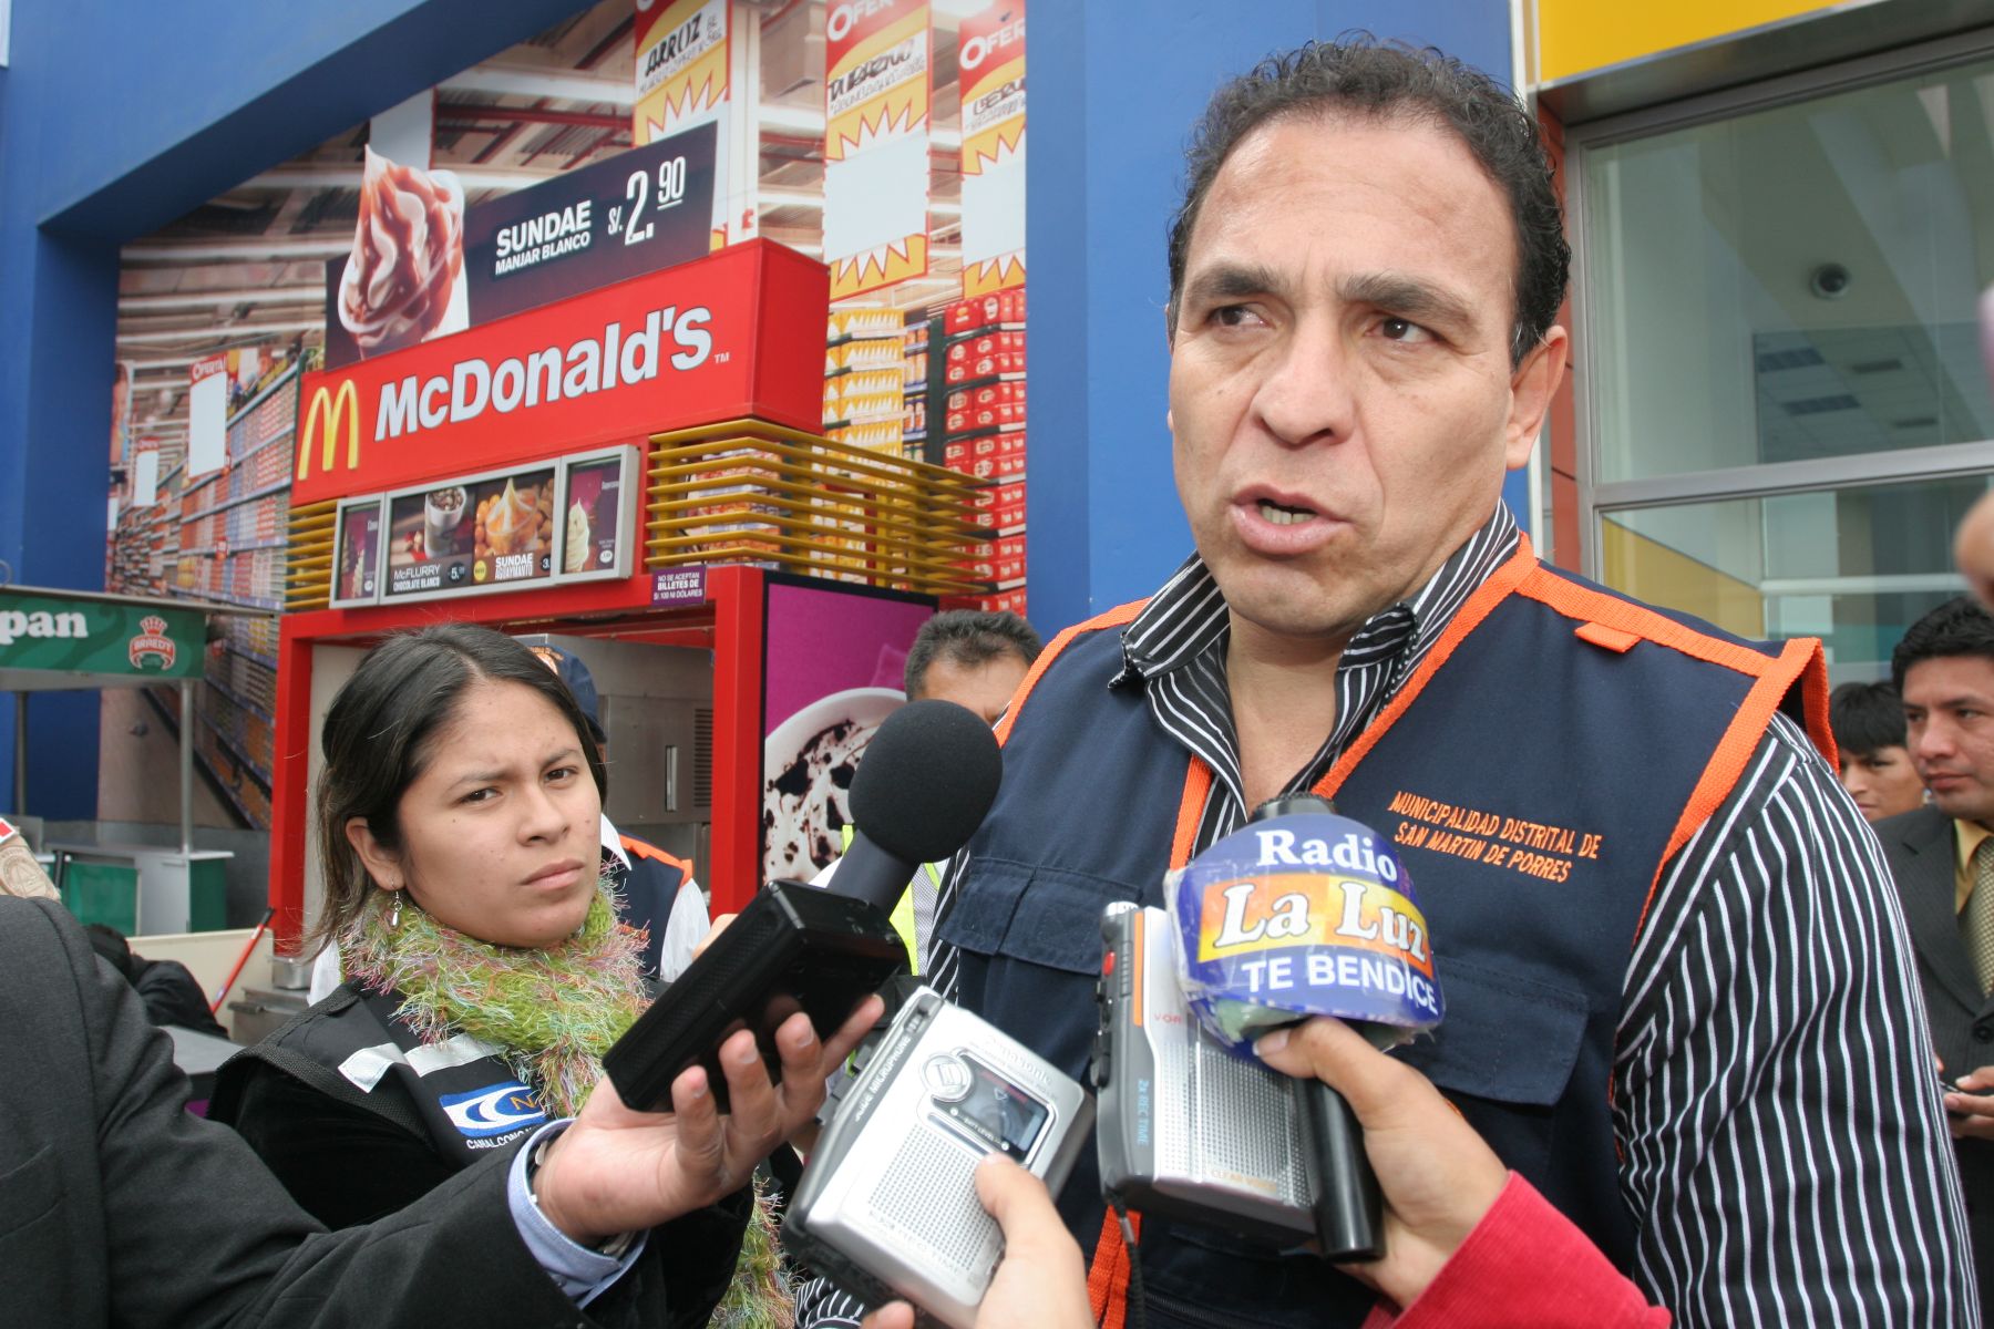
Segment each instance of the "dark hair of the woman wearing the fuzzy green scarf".
[{"label": "dark hair of the woman wearing the fuzzy green scarf", "polygon": [[313,942],[337,936],[359,917],[369,891],[379,889],[347,841],[347,821],[365,817],[381,845],[401,849],[401,795],[429,765],[431,739],[449,725],[459,697],[479,681],[520,683],[546,697],[574,727],[596,791],[608,793],[602,749],[574,693],[530,650],[502,632],[471,624],[437,624],[389,638],[367,652],[333,697],[319,737],[325,751],[317,801],[325,911],[311,930]]}]

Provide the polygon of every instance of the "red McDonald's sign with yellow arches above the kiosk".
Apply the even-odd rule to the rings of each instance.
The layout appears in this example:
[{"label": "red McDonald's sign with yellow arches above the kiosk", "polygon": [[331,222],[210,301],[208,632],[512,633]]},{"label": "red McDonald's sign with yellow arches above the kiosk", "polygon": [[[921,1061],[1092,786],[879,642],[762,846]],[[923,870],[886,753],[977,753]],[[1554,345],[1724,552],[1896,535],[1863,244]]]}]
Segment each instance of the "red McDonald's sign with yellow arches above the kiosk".
[{"label": "red McDonald's sign with yellow arches above the kiosk", "polygon": [[818,428],[824,289],[824,265],[750,241],[305,375],[291,504],[738,416]]}]

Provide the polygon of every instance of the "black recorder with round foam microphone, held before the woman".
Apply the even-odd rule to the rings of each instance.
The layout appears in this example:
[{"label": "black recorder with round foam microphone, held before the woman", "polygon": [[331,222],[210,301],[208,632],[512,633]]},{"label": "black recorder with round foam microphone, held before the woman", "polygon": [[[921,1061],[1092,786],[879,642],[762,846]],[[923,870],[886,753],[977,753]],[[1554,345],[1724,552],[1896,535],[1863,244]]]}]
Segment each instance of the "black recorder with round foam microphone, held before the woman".
[{"label": "black recorder with round foam microphone, held before the woman", "polygon": [[632,1108],[670,1112],[672,1080],[698,1064],[726,1112],[718,1052],[738,1028],[754,1030],[770,1074],[782,1078],[776,1028],[788,1016],[804,1010],[818,1036],[830,1036],[905,968],[891,909],[921,863],[969,841],[1001,773],[997,739],[973,711],[913,701],[887,715],[851,779],[857,835],[830,889],[762,887],[604,1054],[616,1094]]}]

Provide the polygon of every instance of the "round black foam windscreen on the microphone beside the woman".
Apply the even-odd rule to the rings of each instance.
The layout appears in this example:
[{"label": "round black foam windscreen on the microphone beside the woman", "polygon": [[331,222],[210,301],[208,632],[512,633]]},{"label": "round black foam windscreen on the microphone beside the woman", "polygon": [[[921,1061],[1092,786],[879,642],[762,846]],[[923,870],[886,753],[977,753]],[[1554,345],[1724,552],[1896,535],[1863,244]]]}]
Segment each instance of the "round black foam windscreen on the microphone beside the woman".
[{"label": "round black foam windscreen on the microphone beside the woman", "polygon": [[851,821],[905,863],[969,843],[997,799],[1003,757],[983,717],[953,701],[909,701],[879,725],[851,777]]}]

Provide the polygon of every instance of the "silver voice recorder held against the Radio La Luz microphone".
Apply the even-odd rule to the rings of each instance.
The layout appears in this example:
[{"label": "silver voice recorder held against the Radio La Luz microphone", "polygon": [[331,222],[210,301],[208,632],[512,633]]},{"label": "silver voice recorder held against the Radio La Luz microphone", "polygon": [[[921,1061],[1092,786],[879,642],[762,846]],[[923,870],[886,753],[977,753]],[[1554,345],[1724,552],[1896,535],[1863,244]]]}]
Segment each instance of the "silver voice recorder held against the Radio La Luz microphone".
[{"label": "silver voice recorder held against the Radio La Luz microphone", "polygon": [[1274,1245],[1314,1235],[1300,1080],[1226,1052],[1184,1006],[1161,909],[1101,917],[1095,1142],[1111,1203]]}]

